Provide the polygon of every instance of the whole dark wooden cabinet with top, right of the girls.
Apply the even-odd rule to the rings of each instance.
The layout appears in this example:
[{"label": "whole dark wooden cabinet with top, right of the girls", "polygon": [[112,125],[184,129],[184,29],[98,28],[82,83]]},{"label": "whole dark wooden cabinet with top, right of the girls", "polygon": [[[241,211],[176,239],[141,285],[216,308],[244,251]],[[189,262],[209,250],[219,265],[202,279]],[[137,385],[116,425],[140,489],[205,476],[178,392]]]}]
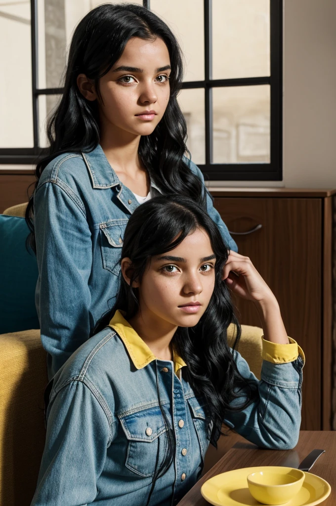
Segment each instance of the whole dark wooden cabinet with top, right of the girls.
[{"label": "whole dark wooden cabinet with top, right of the girls", "polygon": [[[336,190],[227,189],[211,192],[238,245],[274,292],[288,335],[306,355],[302,430],[330,430],[332,375],[332,195]],[[258,325],[236,300],[241,323]]]}]

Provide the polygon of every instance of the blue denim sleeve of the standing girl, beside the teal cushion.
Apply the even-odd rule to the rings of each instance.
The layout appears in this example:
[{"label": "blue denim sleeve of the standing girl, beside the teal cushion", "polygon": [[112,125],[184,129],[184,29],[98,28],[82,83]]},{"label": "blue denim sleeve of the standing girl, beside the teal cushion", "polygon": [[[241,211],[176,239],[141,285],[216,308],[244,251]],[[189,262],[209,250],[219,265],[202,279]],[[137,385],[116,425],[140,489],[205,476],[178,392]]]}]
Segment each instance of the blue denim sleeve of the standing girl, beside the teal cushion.
[{"label": "blue denim sleeve of the standing girl, beside the teal cushion", "polygon": [[35,302],[52,377],[89,338],[91,231],[83,204],[62,182],[47,181],[37,188],[34,224],[39,272]]}]

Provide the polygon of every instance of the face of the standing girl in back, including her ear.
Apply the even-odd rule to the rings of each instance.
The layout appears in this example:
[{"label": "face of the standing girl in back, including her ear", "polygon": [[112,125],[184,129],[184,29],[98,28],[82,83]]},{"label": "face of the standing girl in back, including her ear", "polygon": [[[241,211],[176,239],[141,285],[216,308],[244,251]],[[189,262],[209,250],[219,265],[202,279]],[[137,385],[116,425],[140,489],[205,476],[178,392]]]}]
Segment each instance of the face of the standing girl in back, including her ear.
[{"label": "face of the standing girl in back, including her ear", "polygon": [[[169,102],[170,64],[162,39],[131,38],[119,60],[100,79],[102,100],[95,93],[91,98],[98,100],[102,130],[151,134]],[[80,80],[77,82],[80,88]]]}]

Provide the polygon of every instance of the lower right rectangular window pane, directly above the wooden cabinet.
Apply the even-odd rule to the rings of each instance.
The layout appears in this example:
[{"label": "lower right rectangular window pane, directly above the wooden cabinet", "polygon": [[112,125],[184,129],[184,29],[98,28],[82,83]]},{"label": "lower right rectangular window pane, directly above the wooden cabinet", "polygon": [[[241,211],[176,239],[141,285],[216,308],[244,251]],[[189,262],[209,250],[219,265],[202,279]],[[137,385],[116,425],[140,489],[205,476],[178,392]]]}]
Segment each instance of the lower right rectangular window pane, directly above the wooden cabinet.
[{"label": "lower right rectangular window pane, directly above the wooden cabinet", "polygon": [[213,89],[214,162],[270,162],[270,87]]}]

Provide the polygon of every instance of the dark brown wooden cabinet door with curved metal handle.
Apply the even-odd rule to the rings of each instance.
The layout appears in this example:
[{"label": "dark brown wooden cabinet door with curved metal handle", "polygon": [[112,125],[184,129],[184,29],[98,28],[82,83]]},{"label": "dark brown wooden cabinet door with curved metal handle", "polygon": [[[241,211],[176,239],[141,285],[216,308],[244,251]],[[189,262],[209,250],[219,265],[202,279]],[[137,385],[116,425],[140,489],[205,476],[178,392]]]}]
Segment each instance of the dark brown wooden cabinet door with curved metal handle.
[{"label": "dark brown wooden cabinet door with curved metal handle", "polygon": [[[289,336],[306,355],[302,430],[321,430],[322,199],[217,197],[215,207],[241,255],[275,294]],[[241,323],[260,326],[248,301],[235,299]]]}]

